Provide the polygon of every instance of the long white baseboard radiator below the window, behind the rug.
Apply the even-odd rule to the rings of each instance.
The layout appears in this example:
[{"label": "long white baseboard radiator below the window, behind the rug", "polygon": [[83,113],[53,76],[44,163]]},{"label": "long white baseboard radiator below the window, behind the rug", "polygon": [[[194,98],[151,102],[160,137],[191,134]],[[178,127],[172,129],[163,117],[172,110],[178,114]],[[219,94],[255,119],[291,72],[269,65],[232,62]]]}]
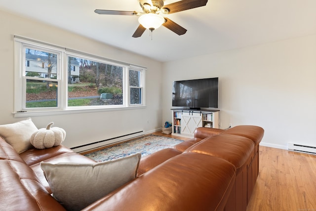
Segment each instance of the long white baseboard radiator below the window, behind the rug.
[{"label": "long white baseboard radiator below the window, behind the rug", "polygon": [[85,152],[85,151],[90,151],[90,150],[94,150],[97,148],[101,148],[101,147],[105,147],[114,143],[119,143],[128,139],[132,139],[132,138],[137,138],[140,136],[143,136],[145,134],[145,132],[143,130],[141,131],[137,131],[137,132],[132,132],[129,134],[124,134],[124,135],[120,135],[117,137],[113,137],[113,138],[108,138],[106,140],[102,140],[102,141],[96,141],[93,143],[89,143],[89,144],[84,144],[81,146],[77,146],[77,147],[72,147],[70,149],[72,149],[74,152],[77,153],[81,153],[81,152]]}]

